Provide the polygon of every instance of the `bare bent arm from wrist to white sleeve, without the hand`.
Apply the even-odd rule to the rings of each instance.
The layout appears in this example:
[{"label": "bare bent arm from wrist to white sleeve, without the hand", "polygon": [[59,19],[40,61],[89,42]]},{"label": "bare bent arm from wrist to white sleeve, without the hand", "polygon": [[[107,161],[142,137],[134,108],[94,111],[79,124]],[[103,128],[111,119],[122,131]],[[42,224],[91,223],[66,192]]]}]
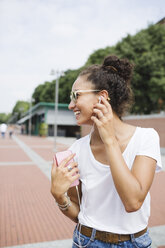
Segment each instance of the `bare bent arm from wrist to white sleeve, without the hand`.
[{"label": "bare bent arm from wrist to white sleeve, without the hand", "polygon": [[136,156],[130,171],[118,144],[107,146],[106,150],[113,181],[126,211],[137,211],[151,187],[156,161],[147,156]]}]

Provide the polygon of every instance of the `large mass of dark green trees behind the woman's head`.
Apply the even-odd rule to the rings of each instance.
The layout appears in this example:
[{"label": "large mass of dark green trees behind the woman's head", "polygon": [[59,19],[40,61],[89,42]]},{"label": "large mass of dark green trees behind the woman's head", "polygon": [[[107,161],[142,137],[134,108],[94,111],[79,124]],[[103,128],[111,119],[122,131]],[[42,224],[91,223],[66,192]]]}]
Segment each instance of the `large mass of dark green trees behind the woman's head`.
[{"label": "large mass of dark green trees behind the woman's head", "polygon": [[[101,64],[109,54],[128,58],[134,65],[132,89],[135,104],[132,113],[158,112],[165,108],[165,27],[150,25],[136,35],[127,35],[116,46],[92,53],[85,65],[67,70],[59,80],[59,102],[69,103],[71,87],[79,72],[91,64]],[[35,103],[54,102],[55,80],[39,85],[34,93]]]}]

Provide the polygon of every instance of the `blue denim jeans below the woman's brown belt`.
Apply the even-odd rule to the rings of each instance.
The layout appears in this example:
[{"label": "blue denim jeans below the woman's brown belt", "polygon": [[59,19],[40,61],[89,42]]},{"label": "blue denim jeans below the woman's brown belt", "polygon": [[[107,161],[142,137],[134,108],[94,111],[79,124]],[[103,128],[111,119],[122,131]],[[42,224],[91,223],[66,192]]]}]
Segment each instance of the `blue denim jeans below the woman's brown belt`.
[{"label": "blue denim jeans below the woman's brown belt", "polygon": [[135,238],[134,234],[131,234],[131,240],[120,242],[118,244],[111,244],[102,242],[95,239],[96,230],[93,229],[91,237],[86,237],[81,234],[77,228],[73,234],[72,248],[147,248],[151,247],[151,238],[148,235],[148,231],[142,236]]}]

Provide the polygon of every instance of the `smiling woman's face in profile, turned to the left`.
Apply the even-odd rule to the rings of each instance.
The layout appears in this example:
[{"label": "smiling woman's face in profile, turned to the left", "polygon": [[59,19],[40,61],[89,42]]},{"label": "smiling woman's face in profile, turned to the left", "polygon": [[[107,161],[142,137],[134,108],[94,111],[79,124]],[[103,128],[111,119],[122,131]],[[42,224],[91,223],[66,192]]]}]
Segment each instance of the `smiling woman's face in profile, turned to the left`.
[{"label": "smiling woman's face in profile, turned to the left", "polygon": [[77,100],[71,100],[69,109],[73,110],[77,124],[92,125],[91,116],[93,115],[93,107],[99,101],[98,92],[88,92],[87,90],[95,90],[90,81],[86,81],[85,76],[80,76],[76,79],[72,86],[72,91],[84,90],[84,92],[77,92]]}]

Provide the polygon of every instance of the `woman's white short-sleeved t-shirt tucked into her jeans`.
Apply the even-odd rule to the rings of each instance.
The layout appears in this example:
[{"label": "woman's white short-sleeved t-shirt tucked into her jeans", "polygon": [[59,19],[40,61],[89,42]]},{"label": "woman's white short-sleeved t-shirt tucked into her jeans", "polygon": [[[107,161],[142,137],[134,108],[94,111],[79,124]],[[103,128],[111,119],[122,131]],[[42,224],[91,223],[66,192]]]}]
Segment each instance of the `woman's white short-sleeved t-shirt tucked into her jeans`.
[{"label": "woman's white short-sleeved t-shirt tucked into her jeans", "polygon": [[[148,225],[150,216],[150,194],[142,207],[127,213],[116,191],[109,165],[98,162],[91,151],[90,135],[77,140],[70,148],[76,153],[82,201],[78,219],[80,224],[101,231],[131,234]],[[149,156],[157,161],[156,171],[161,170],[159,136],[153,128],[137,127],[129,141],[123,158],[131,169],[136,155]]]}]

